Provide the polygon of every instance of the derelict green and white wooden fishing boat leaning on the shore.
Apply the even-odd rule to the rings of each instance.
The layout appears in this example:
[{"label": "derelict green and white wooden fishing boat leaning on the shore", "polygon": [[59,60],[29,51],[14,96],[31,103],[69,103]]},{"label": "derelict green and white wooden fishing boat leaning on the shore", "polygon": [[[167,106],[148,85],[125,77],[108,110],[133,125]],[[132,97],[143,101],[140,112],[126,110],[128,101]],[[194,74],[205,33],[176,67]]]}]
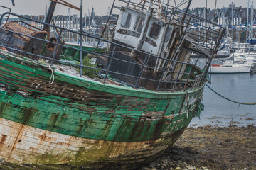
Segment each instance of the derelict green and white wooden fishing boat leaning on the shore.
[{"label": "derelict green and white wooden fishing boat leaning on the shore", "polygon": [[[171,147],[200,112],[210,61],[225,30],[211,30],[208,21],[188,30],[203,20],[188,13],[191,1],[186,11],[153,0],[122,2],[112,41],[47,19],[43,30],[21,21],[1,24],[0,159],[135,169]],[[0,23],[8,15],[41,23],[9,12]],[[49,28],[58,29],[58,37],[46,38]],[[62,47],[77,50],[62,41],[67,31],[105,41],[110,52],[80,46],[80,62],[61,59]],[[211,45],[198,45],[198,35]],[[191,62],[192,52],[208,58],[203,69]]]}]

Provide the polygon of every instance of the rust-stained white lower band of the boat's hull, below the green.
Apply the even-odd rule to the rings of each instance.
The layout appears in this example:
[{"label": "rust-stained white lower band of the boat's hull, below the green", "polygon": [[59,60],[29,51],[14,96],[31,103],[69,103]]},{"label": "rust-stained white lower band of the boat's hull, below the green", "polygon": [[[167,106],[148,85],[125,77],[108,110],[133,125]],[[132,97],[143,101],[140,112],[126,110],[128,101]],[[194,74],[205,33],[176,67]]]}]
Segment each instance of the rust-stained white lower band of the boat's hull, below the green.
[{"label": "rust-stained white lower band of the boat's hull, below the green", "polygon": [[144,142],[113,142],[63,135],[0,118],[0,157],[16,164],[68,162],[70,165],[91,168],[119,164],[130,169],[138,164],[146,164],[164,152],[183,130],[171,135],[168,140],[160,138]]}]

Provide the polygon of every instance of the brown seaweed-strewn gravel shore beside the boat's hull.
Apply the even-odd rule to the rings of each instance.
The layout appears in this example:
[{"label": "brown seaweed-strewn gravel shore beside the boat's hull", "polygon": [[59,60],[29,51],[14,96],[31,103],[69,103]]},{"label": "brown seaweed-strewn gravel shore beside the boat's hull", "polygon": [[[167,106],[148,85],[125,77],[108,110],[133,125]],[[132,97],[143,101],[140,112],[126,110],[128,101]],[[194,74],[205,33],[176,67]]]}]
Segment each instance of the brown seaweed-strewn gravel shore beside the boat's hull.
[{"label": "brown seaweed-strewn gravel shore beside the boat's hull", "polygon": [[174,147],[139,170],[256,170],[256,127],[188,128]]}]

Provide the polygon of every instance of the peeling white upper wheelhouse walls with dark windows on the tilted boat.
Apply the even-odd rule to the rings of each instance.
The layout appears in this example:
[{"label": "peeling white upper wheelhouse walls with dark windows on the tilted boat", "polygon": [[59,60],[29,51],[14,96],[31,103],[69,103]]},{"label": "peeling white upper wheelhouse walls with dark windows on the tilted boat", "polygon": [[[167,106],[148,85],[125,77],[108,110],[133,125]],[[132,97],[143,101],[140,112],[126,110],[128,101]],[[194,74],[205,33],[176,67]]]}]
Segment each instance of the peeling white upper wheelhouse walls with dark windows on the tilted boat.
[{"label": "peeling white upper wheelhouse walls with dark windows on the tilted boat", "polygon": [[[164,17],[156,16],[152,16],[146,23],[146,15],[146,11],[122,7],[113,40],[124,45],[138,47],[140,38],[144,36],[140,50],[159,55],[162,48],[161,42],[164,41],[165,45],[167,44],[174,26],[166,23]],[[142,35],[144,27],[145,35]]]}]

